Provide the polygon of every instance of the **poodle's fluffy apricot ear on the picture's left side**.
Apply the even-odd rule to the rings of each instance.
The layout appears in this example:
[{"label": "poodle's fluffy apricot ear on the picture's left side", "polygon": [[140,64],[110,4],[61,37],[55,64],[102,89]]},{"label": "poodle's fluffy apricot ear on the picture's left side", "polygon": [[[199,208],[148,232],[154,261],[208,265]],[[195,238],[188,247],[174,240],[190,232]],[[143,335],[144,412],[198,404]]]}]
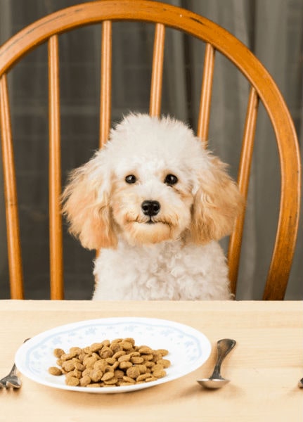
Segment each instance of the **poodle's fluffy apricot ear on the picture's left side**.
[{"label": "poodle's fluffy apricot ear on the picture's left side", "polygon": [[117,237],[110,210],[110,174],[103,169],[101,152],[73,170],[63,192],[63,215],[69,231],[84,248],[115,248]]}]

